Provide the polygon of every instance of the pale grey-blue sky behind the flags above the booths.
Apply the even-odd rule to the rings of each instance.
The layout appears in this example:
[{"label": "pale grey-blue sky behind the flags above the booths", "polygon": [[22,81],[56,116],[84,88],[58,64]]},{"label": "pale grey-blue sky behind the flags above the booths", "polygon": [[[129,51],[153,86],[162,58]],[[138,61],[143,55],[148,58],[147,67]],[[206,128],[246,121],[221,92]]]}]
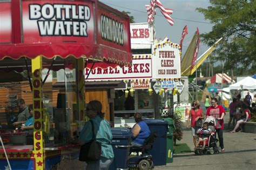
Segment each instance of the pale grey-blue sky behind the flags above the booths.
[{"label": "pale grey-blue sky behind the flags above the booths", "polygon": [[[119,11],[129,11],[134,17],[136,23],[147,22],[147,13],[145,5],[150,3],[150,0],[99,0],[114,9]],[[171,42],[179,43],[181,33],[185,25],[188,28],[188,34],[183,42],[183,55],[187,46],[196,32],[198,27],[199,33],[210,32],[212,24],[204,19],[204,15],[197,12],[196,8],[207,8],[210,6],[208,0],[160,0],[164,8],[173,9],[171,15],[174,24],[171,26],[157,9],[157,15],[155,17],[156,23],[156,36],[157,38],[168,37]],[[193,22],[194,21],[194,22]],[[208,47],[201,43],[199,47],[198,57],[204,53]]]}]

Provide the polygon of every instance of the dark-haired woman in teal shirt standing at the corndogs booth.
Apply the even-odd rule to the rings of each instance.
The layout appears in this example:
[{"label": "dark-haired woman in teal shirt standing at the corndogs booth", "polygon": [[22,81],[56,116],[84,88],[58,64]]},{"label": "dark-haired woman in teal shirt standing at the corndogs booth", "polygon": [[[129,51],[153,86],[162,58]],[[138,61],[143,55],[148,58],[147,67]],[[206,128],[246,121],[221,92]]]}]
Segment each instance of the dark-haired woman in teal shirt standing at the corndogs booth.
[{"label": "dark-haired woman in teal shirt standing at the corndogs booth", "polygon": [[[96,141],[102,144],[102,152],[100,154],[100,160],[86,162],[86,169],[109,169],[110,164],[113,161],[114,153],[111,146],[112,133],[110,130],[109,122],[104,119],[104,113],[102,113],[102,104],[98,100],[92,100],[86,106],[86,115],[92,120],[95,128]],[[92,125],[90,121],[87,121],[80,132],[78,138],[78,144],[84,145],[92,139]]]}]

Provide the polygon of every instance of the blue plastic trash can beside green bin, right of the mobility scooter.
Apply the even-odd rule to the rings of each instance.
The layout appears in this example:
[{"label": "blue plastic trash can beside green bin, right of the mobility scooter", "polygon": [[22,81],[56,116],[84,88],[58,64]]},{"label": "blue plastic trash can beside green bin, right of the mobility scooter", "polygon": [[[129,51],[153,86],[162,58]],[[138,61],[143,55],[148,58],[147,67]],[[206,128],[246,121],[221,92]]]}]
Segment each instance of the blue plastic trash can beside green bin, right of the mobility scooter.
[{"label": "blue plastic trash can beside green bin, right of the mobility scooter", "polygon": [[156,166],[166,165],[166,136],[168,132],[168,123],[159,119],[145,119],[150,132],[157,132],[157,139],[149,154],[153,157],[153,163]]}]

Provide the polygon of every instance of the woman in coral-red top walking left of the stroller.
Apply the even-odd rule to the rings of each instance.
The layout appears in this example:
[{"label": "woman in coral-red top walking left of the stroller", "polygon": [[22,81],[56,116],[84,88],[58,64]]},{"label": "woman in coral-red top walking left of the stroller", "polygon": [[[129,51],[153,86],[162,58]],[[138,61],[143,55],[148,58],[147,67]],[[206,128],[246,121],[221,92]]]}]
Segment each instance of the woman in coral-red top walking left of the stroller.
[{"label": "woman in coral-red top walking left of the stroller", "polygon": [[199,119],[204,119],[204,113],[202,108],[200,108],[200,104],[198,100],[194,100],[192,102],[192,109],[190,110],[190,114],[188,115],[188,119],[187,119],[187,129],[188,129],[188,125],[190,124],[190,119],[191,119],[191,130],[192,130],[194,147],[196,148],[197,130],[200,128],[196,126],[196,121]]}]

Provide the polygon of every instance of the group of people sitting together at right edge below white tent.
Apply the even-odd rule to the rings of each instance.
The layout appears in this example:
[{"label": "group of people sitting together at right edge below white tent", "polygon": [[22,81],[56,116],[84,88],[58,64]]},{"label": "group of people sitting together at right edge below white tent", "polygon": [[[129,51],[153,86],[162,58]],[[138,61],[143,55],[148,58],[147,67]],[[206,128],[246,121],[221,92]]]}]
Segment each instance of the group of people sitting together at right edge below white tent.
[{"label": "group of people sitting together at right edge below white tent", "polygon": [[233,98],[232,103],[230,104],[230,120],[228,121],[228,129],[230,128],[231,122],[234,127],[233,130],[230,131],[230,133],[235,133],[238,128],[240,129],[238,132],[242,132],[242,127],[240,125],[246,123],[247,121],[250,121],[251,119],[252,108],[250,106],[252,97],[250,96],[250,93],[247,93],[244,101],[240,99],[241,95],[238,94],[237,98]]}]

